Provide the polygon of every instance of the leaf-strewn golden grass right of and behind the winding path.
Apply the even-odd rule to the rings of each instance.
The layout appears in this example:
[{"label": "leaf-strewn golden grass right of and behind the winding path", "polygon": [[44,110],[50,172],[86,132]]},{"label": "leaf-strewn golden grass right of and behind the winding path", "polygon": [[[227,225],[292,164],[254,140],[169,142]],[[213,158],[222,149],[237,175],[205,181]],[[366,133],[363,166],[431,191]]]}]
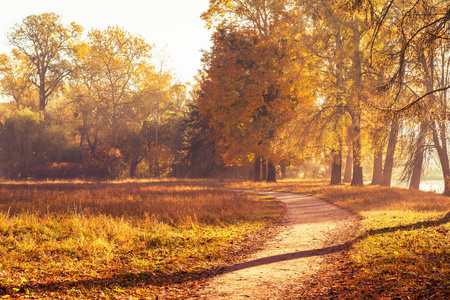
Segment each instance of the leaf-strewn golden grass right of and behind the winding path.
[{"label": "leaf-strewn golden grass right of and behind the winding path", "polygon": [[[377,186],[324,181],[231,183],[233,187],[314,195],[360,217],[349,251],[294,299],[450,299],[450,198]],[[315,282],[313,282],[315,281]],[[319,283],[319,284],[318,284]]]}]

